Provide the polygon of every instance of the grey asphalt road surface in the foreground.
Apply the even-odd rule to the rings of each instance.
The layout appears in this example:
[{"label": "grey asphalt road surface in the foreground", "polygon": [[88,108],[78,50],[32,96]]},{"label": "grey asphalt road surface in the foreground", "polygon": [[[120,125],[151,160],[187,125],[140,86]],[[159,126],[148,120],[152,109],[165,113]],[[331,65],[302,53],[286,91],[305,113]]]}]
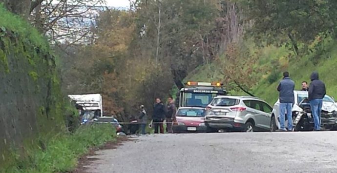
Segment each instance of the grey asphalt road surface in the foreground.
[{"label": "grey asphalt road surface in the foreground", "polygon": [[166,134],[98,151],[88,173],[336,173],[337,132]]}]

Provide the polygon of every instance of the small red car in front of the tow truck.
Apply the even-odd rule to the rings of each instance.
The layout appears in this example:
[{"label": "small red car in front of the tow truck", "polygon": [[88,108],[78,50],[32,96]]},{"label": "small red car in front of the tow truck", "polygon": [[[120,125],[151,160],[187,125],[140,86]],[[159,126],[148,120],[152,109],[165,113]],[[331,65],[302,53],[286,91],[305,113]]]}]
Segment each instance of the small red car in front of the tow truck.
[{"label": "small red car in front of the tow truck", "polygon": [[204,116],[204,108],[180,107],[175,115],[173,133],[205,133]]}]

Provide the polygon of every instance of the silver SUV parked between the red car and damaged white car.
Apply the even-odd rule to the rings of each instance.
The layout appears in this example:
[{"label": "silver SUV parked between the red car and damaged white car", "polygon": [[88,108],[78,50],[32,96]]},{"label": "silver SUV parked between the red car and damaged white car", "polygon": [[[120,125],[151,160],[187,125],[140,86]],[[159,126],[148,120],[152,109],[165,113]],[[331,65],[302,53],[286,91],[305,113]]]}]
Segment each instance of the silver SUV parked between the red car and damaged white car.
[{"label": "silver SUV parked between the red car and damaged white car", "polygon": [[208,132],[269,131],[273,108],[251,96],[216,96],[206,108]]}]

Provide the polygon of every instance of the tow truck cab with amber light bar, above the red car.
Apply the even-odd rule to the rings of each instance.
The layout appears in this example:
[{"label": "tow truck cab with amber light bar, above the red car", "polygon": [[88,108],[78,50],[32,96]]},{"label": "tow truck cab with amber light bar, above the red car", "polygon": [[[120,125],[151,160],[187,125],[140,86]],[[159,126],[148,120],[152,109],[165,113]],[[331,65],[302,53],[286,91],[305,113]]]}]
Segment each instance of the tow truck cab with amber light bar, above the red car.
[{"label": "tow truck cab with amber light bar, above the red car", "polygon": [[177,93],[177,107],[202,107],[211,102],[214,96],[227,95],[223,84],[220,82],[192,82],[188,81],[186,86]]}]

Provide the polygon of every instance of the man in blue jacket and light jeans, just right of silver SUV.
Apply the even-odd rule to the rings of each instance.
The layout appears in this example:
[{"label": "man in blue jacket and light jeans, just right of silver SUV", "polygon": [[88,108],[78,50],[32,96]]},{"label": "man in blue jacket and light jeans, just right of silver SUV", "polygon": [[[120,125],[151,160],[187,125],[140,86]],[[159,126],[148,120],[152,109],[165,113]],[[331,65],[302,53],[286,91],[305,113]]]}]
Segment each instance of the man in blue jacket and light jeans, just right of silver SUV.
[{"label": "man in blue jacket and light jeans, just right of silver SUV", "polygon": [[295,82],[289,77],[289,72],[283,73],[283,79],[277,86],[280,99],[280,131],[286,131],[284,126],[285,113],[287,110],[288,131],[293,129],[292,107],[294,104]]}]

